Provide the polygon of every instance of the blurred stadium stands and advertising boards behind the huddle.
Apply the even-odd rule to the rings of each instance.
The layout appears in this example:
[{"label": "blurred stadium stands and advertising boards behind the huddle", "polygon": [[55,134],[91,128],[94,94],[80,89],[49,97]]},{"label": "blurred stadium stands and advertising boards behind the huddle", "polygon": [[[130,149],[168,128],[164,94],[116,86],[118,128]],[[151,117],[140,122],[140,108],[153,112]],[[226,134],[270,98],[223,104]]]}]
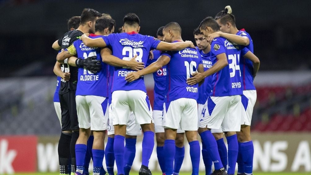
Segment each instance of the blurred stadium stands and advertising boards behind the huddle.
[{"label": "blurred stadium stands and advertising boards behind the huddle", "polygon": [[[184,40],[206,16],[230,5],[238,29],[252,36],[261,60],[255,79],[257,103],[252,133],[257,172],[311,174],[311,2],[294,1],[0,1],[0,174],[57,172],[60,127],[54,111],[53,74],[57,52],[52,43],[67,31],[67,19],[90,7],[109,13],[122,26],[123,16],[136,13],[141,34],[175,21]],[[152,76],[146,76],[150,99]],[[140,142],[133,169],[138,170]],[[189,171],[186,154],[181,171]],[[203,170],[201,161],[201,170]],[[150,168],[159,170],[156,152]],[[55,173],[57,174],[57,173]]]}]

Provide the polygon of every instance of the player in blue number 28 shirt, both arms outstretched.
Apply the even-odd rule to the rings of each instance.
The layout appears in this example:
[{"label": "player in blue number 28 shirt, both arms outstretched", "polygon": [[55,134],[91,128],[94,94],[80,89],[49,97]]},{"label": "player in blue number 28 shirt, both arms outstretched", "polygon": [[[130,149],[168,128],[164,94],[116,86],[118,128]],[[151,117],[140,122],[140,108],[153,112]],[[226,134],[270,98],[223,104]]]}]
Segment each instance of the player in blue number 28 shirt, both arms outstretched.
[{"label": "player in blue number 28 shirt, both arms outstretched", "polygon": [[[158,39],[138,34],[139,18],[136,14],[129,13],[123,18],[123,31],[121,34],[110,34],[98,39],[91,39],[82,35],[81,39],[89,47],[110,46],[113,55],[124,60],[129,60],[137,54],[137,61],[146,62],[151,49],[158,50],[180,50],[186,47],[193,47],[192,42],[165,43]],[[118,174],[124,175],[124,138],[126,125],[131,112],[135,115],[137,124],[140,124],[144,137],[142,141],[142,167],[140,175],[151,174],[148,169],[149,159],[154,146],[154,121],[152,109],[143,77],[139,80],[128,83],[124,77],[132,72],[127,67],[115,67],[112,93],[112,115],[114,117],[114,156],[117,164]]]}]

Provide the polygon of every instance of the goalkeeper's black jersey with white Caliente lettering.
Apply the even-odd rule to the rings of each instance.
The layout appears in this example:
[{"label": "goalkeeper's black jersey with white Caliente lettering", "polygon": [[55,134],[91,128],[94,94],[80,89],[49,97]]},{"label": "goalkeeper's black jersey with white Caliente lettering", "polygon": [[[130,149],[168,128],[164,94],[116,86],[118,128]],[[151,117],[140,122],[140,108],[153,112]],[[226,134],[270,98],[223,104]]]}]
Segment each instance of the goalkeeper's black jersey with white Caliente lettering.
[{"label": "goalkeeper's black jersey with white Caliente lettering", "polygon": [[[80,30],[71,30],[58,39],[58,45],[60,45],[62,49],[65,49],[69,47],[75,40],[79,39],[81,35],[83,35],[83,33]],[[78,82],[78,67],[69,66],[67,64],[66,58],[61,66],[61,69],[63,72],[70,72],[70,79],[69,81],[64,81],[61,79],[59,94],[65,94],[69,90],[76,90]]]}]

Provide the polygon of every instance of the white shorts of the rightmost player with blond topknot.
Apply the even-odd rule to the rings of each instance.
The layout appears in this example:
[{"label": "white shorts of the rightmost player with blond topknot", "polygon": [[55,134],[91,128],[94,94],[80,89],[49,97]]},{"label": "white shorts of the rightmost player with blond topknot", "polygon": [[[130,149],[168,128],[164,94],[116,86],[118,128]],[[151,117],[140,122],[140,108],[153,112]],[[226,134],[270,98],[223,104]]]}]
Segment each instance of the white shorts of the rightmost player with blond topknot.
[{"label": "white shorts of the rightmost player with blond topknot", "polygon": [[242,100],[242,117],[241,125],[251,126],[254,105],[256,103],[256,90],[243,90]]}]

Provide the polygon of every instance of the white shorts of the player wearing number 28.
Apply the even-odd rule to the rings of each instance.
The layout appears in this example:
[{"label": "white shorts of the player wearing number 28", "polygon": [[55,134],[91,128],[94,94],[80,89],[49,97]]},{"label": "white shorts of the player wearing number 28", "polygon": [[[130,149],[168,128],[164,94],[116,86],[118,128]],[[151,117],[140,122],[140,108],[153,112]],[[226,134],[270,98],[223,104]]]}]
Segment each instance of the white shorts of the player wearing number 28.
[{"label": "white shorts of the player wearing number 28", "polygon": [[150,101],[144,91],[116,90],[112,93],[111,106],[114,125],[127,125],[132,112],[136,124],[154,123]]}]

